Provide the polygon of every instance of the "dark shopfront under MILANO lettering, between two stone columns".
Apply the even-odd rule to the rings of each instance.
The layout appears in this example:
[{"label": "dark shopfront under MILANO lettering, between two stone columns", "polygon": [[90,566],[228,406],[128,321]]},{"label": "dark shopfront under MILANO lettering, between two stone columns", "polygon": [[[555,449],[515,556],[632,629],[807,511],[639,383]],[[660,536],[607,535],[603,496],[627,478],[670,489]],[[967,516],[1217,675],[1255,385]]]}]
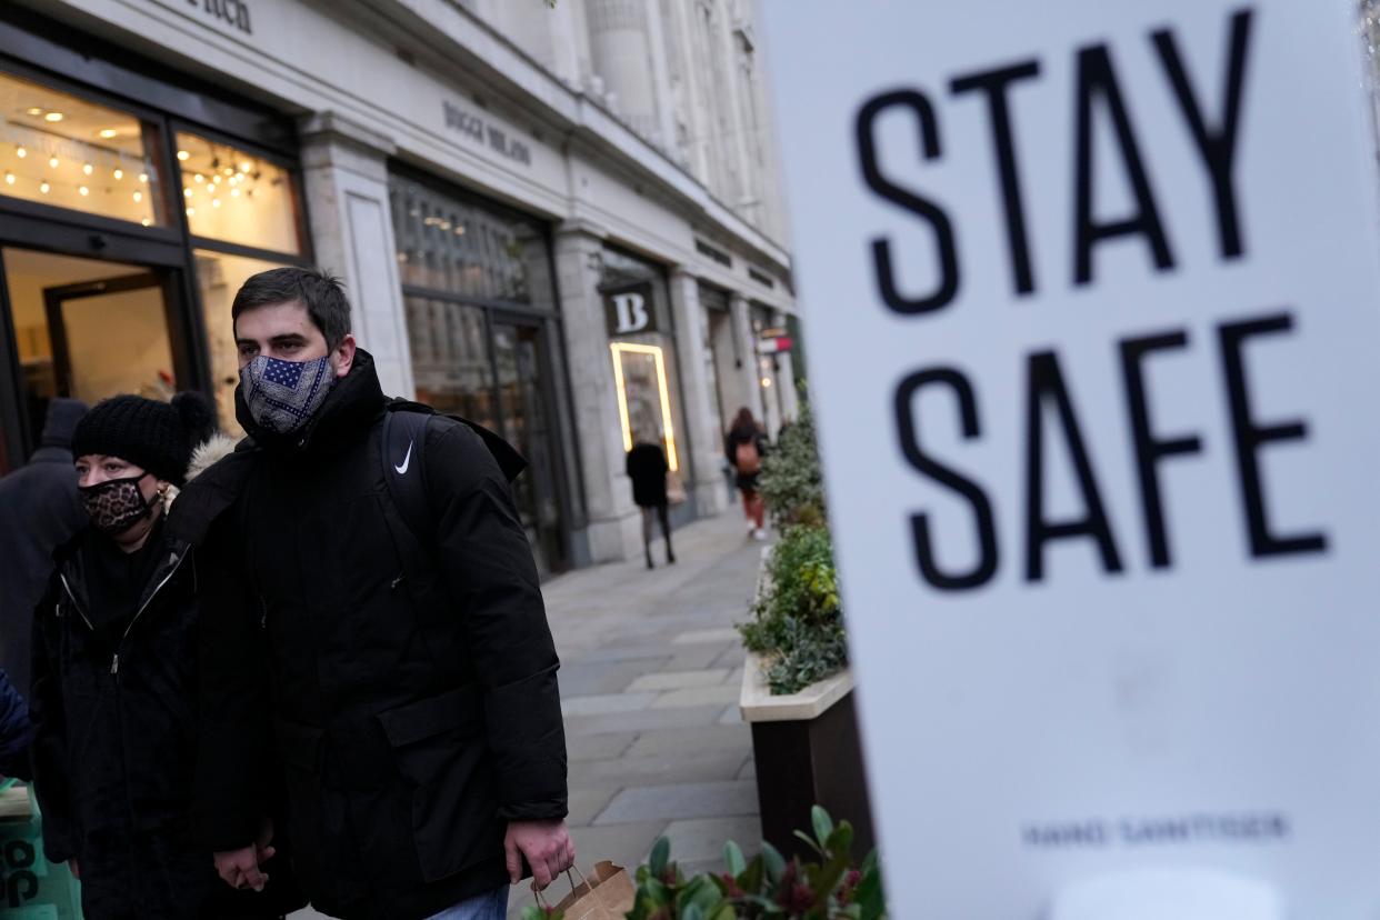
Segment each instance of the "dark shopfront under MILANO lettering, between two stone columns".
[{"label": "dark shopfront under MILANO lettering, between two stone columns", "polygon": [[581,509],[548,228],[404,167],[389,193],[417,399],[522,451],[523,527],[544,574],[567,568]]}]

